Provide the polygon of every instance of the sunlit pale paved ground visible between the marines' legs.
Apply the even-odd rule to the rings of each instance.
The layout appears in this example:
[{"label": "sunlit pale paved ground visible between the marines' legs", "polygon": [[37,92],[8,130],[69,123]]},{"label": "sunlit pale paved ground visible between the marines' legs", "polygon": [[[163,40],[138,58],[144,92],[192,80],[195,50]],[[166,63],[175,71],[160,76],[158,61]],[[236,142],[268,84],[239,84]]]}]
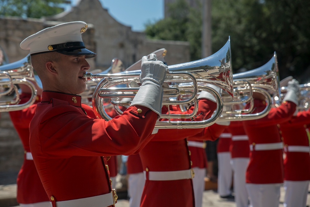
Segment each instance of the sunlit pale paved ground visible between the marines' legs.
[{"label": "sunlit pale paved ground visible between the marines' legs", "polygon": [[[0,173],[0,207],[18,207],[16,202],[16,173]],[[116,207],[129,207],[126,191],[118,192],[119,199]],[[279,207],[283,207],[284,189],[281,187],[281,198]],[[310,194],[308,194],[307,205],[310,206]],[[218,193],[207,190],[203,193],[203,207],[235,207],[233,200],[219,198]]]}]

